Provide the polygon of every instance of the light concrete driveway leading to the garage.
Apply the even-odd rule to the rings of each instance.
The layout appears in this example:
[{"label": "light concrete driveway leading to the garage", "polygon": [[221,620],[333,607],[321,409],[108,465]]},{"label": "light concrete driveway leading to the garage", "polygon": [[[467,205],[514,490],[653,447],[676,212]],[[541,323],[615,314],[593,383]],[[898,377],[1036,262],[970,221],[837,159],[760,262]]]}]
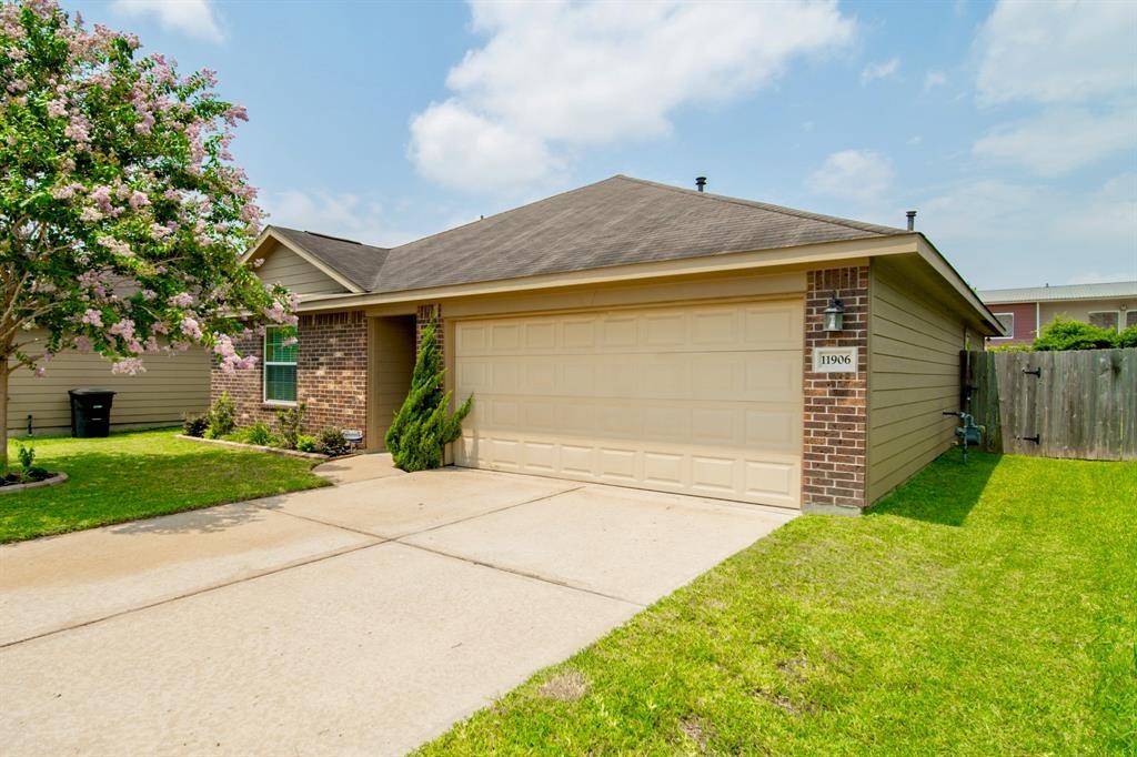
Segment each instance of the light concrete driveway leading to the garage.
[{"label": "light concrete driveway leading to the garage", "polygon": [[360,465],[0,548],[3,754],[401,754],[792,516]]}]

